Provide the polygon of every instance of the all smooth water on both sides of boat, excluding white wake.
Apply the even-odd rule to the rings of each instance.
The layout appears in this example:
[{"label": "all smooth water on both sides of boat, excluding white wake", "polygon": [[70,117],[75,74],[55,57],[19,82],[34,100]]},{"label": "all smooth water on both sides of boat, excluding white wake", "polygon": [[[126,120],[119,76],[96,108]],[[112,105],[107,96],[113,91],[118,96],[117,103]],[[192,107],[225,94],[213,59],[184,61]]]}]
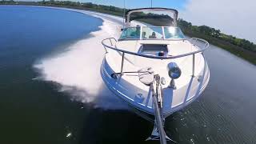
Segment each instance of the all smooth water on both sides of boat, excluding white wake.
[{"label": "all smooth water on both sides of boat, excluding white wake", "polygon": [[[153,125],[136,114],[95,109],[54,82],[33,80],[34,62],[88,37],[101,19],[11,6],[0,6],[0,19],[0,143],[158,143],[144,142]],[[209,86],[166,119],[167,134],[179,143],[255,143],[256,66],[216,46],[206,58]]]}]

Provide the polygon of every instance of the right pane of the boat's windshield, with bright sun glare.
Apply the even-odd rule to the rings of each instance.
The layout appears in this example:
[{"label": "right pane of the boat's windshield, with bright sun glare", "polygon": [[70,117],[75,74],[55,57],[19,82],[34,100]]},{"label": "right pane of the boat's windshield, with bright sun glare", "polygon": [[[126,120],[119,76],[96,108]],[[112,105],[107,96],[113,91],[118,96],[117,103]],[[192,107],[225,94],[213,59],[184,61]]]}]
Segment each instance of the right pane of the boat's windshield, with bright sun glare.
[{"label": "right pane of the boat's windshield, with bright sun glare", "polygon": [[164,27],[165,38],[185,38],[178,27]]}]

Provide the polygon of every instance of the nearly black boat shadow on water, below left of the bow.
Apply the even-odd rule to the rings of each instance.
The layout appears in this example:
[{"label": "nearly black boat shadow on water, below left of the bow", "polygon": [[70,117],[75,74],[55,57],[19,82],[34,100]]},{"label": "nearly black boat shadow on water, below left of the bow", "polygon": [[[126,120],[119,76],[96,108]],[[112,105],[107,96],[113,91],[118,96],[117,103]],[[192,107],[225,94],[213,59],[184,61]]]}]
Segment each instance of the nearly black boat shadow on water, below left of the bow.
[{"label": "nearly black boat shadow on water, below left of the bow", "polygon": [[[101,86],[99,94],[116,98],[104,85]],[[104,98],[106,95],[98,96],[95,102],[97,103],[98,99]],[[104,99],[104,102],[107,101],[109,100]],[[115,105],[113,99],[111,99],[111,102],[112,105]],[[116,102],[122,102],[122,100],[117,98]],[[102,105],[102,103],[100,104]],[[142,115],[139,113],[140,111],[130,106],[126,107],[125,102],[122,102],[122,105],[125,106],[124,110],[110,110],[98,106],[96,106],[98,108],[92,108],[95,106],[90,106],[90,110],[86,111],[86,118],[82,122],[83,126],[78,143],[158,143],[157,141],[145,141],[150,136],[154,126],[152,120],[146,120],[145,117],[148,115]]]}]

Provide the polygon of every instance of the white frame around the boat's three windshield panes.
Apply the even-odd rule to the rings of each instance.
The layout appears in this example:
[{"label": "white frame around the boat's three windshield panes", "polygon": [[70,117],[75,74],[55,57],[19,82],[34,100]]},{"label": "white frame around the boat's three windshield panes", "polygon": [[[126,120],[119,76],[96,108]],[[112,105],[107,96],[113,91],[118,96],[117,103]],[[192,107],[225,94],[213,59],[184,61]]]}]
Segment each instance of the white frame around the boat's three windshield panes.
[{"label": "white frame around the boat's three windshield panes", "polygon": [[[129,29],[129,28],[140,28],[140,35],[139,38],[118,38],[118,41],[126,41],[126,40],[167,40],[167,41],[180,41],[180,40],[185,40],[185,35],[183,34],[182,30],[178,27],[178,26],[129,26],[124,28],[123,30]],[[147,27],[147,28],[161,28],[162,29],[162,38],[142,38],[142,32],[143,32],[143,28]],[[166,32],[165,32],[165,28],[169,28],[169,27],[173,27],[174,29],[179,29],[180,32],[182,33],[182,35],[184,36],[184,38],[166,38]],[[123,33],[122,30],[122,33]]]}]

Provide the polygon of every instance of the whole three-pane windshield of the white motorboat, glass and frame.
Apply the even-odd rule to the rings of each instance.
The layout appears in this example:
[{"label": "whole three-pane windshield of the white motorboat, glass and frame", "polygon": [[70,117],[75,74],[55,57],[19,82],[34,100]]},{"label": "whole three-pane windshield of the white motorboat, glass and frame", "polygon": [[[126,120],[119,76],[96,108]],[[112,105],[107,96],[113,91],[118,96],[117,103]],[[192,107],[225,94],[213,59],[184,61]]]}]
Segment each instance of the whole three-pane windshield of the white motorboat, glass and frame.
[{"label": "whole three-pane windshield of the white motorboat, glass and frame", "polygon": [[120,39],[183,39],[184,34],[173,26],[137,26],[122,30]]}]

